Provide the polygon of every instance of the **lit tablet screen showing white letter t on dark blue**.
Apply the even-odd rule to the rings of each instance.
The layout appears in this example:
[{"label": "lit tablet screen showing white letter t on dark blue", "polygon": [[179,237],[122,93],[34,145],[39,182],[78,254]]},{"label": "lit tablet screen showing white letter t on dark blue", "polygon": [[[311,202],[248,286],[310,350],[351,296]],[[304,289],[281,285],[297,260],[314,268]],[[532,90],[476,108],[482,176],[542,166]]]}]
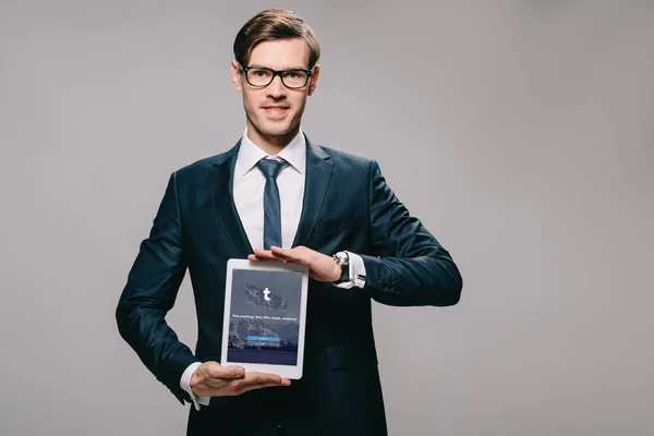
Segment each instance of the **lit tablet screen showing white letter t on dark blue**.
[{"label": "lit tablet screen showing white letter t on dark blue", "polygon": [[234,269],[228,360],[296,365],[301,298],[301,272]]}]

